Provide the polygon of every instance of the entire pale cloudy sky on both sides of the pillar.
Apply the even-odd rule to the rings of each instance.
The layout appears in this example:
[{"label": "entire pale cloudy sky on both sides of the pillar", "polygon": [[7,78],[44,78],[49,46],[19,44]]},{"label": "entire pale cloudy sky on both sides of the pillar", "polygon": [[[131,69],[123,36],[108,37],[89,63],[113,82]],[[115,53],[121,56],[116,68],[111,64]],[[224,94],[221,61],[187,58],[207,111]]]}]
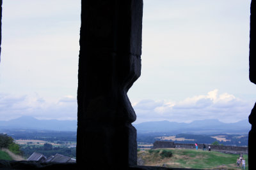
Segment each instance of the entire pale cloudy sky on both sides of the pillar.
[{"label": "entire pale cloudy sky on both sides of the pillar", "polygon": [[[0,120],[77,119],[80,3],[3,2]],[[144,0],[134,124],[247,119],[249,33],[250,1]]]}]

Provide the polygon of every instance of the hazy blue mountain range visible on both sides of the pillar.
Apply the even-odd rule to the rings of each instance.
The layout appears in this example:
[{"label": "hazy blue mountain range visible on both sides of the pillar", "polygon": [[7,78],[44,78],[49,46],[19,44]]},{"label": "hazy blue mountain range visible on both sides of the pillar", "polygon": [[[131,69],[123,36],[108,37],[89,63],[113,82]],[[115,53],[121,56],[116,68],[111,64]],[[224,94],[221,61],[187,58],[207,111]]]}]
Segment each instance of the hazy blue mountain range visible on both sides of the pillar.
[{"label": "hazy blue mountain range visible on both sides of the pillar", "polygon": [[[218,134],[218,133],[248,133],[251,125],[248,120],[225,124],[216,119],[196,120],[189,124],[169,122],[143,122],[134,125],[138,134],[168,133],[168,134]],[[0,129],[42,129],[52,131],[77,131],[76,120],[38,120],[33,117],[20,117],[8,121],[0,121]]]}]

